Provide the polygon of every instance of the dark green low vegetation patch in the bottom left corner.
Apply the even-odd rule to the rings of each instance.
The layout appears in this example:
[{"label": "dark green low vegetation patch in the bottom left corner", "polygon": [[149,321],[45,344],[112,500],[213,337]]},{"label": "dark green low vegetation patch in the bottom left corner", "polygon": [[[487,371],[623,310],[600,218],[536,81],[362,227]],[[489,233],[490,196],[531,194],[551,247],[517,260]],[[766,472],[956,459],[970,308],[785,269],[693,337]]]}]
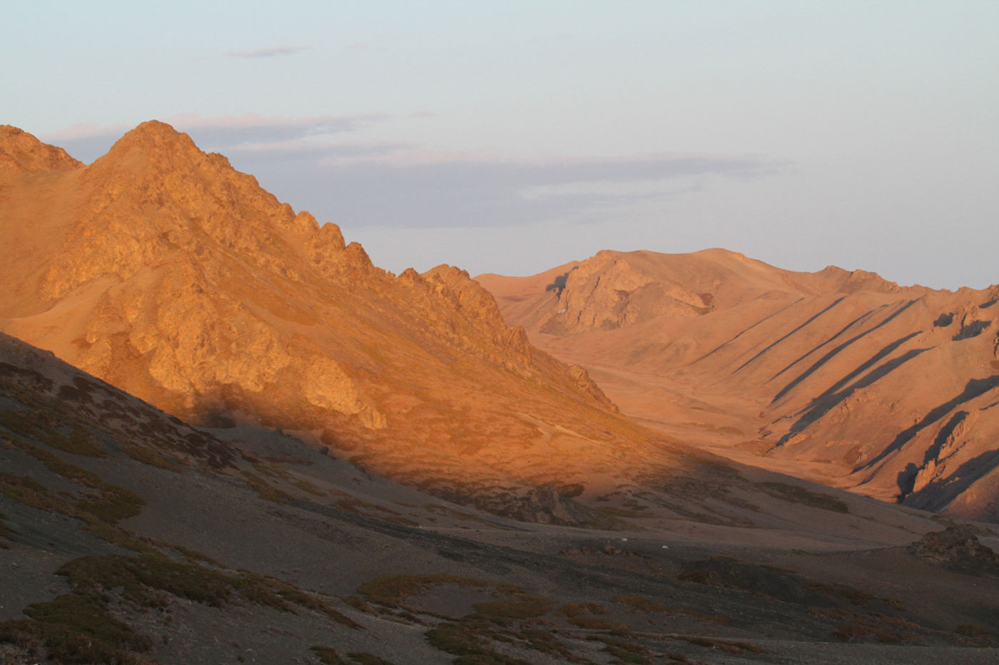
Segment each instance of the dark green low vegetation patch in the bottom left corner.
[{"label": "dark green low vegetation patch in the bottom left corner", "polygon": [[115,619],[98,597],[64,594],[28,606],[29,619],[0,623],[0,642],[32,646],[41,643],[57,663],[152,663],[136,654],[147,651],[149,638]]}]

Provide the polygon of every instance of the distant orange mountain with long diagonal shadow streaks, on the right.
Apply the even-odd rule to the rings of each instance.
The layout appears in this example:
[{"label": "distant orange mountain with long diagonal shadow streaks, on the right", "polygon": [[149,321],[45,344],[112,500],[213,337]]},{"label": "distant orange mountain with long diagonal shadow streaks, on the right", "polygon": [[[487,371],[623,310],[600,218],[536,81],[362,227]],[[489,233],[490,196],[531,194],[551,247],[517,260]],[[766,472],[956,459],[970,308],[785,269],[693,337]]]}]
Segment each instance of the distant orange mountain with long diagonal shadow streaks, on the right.
[{"label": "distant orange mountain with long diagonal shadow streaks, on the right", "polygon": [[733,459],[999,520],[999,287],[902,288],[724,250],[480,276],[622,411]]}]

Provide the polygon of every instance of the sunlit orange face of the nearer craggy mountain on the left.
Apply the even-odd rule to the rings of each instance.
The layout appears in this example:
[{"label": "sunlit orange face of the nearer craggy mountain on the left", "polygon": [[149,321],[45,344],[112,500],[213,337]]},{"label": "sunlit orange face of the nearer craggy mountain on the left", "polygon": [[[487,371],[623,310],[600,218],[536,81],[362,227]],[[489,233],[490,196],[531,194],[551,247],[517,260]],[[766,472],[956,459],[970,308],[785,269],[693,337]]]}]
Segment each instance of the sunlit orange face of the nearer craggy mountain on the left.
[{"label": "sunlit orange face of the nearer craggy mountain on the left", "polygon": [[168,125],[86,167],[10,129],[0,156],[0,328],[177,415],[298,430],[459,493],[593,473],[503,453],[552,428],[580,451],[649,438],[465,272],[378,269]]}]

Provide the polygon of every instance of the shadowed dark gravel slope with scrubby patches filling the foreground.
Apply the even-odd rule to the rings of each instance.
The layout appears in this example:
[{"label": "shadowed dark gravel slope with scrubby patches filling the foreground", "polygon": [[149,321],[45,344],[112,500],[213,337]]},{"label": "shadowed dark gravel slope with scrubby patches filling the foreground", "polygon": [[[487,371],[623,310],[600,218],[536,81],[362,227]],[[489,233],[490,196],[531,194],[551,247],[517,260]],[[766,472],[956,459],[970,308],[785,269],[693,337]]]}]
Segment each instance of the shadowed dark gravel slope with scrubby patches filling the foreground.
[{"label": "shadowed dark gravel slope with scrubby patches filling the foreground", "polygon": [[225,433],[0,336],[4,662],[994,662],[995,557],[904,508],[586,531]]}]

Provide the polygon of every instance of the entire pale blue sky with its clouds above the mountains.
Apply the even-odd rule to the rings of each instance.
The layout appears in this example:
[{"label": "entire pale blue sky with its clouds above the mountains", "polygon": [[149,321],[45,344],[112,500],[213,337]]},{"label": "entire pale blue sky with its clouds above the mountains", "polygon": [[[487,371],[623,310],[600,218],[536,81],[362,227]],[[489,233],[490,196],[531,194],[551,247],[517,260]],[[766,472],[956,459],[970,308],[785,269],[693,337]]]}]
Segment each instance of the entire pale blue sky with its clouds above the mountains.
[{"label": "entire pale blue sky with its clouds above the mountains", "polygon": [[3,4],[0,123],[160,119],[376,264],[725,247],[999,283],[999,2]]}]

